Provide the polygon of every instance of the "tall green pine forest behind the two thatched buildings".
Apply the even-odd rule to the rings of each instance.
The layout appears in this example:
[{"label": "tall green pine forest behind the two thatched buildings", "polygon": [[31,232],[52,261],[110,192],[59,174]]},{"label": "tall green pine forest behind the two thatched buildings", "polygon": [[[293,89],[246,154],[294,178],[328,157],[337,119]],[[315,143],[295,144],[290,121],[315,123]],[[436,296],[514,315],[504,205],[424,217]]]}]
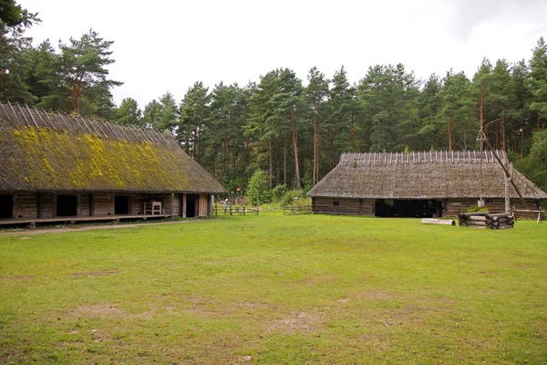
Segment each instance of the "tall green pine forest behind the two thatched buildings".
[{"label": "tall green pine forest behind the two thatched buildings", "polygon": [[123,80],[108,77],[112,40],[90,30],[33,46],[25,30],[36,22],[16,5],[3,13],[0,101],[171,133],[231,192],[257,179],[267,186],[263,201],[280,186],[305,192],[342,152],[478,149],[481,129],[491,149],[508,151],[547,190],[543,37],[522,59],[478,59],[474,75],[449,69],[419,79],[402,64],[376,65],[352,84],[344,66],[334,75],[276,68],[247,85],[198,80],[181,100],[166,90],[139,106],[131,98],[113,101]]}]

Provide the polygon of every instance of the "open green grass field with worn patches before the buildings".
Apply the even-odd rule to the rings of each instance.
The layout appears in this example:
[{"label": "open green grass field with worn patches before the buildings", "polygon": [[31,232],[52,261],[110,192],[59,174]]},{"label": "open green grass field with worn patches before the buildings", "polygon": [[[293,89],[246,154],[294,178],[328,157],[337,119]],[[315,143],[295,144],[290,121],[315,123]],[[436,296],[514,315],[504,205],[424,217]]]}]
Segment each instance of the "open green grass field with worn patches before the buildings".
[{"label": "open green grass field with worn patches before the buildings", "polygon": [[547,363],[547,224],[221,217],[0,235],[0,363]]}]

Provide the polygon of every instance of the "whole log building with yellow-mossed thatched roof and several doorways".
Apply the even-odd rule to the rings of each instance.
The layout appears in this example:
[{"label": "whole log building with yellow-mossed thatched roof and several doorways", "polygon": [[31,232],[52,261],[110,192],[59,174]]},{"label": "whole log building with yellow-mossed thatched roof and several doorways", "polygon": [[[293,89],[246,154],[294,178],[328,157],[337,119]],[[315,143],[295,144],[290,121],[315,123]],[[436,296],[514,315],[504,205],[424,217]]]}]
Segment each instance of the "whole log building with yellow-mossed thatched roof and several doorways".
[{"label": "whole log building with yellow-mossed thatched roof and several doorways", "polygon": [[224,192],[168,134],[0,103],[0,224],[205,217]]}]

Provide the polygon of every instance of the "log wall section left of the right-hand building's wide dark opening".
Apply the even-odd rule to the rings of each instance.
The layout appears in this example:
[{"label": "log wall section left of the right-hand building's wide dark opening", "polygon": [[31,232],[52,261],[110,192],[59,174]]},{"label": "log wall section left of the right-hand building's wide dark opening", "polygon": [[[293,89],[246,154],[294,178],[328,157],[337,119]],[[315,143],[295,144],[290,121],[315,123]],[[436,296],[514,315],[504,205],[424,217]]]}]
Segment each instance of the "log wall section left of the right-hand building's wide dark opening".
[{"label": "log wall section left of the right-hand building's wide dark opening", "polygon": [[315,214],[374,215],[374,199],[316,197],[313,202]]}]

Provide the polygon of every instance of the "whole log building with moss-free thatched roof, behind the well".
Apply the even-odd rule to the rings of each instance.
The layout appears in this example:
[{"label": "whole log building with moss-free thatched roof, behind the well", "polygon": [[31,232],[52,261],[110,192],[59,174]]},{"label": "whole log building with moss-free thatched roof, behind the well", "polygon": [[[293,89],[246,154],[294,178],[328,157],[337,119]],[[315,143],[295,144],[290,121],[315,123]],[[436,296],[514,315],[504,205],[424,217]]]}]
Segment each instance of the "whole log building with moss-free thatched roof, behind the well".
[{"label": "whole log building with moss-free thatched roof, behind the well", "polygon": [[[345,153],[309,192],[316,214],[401,217],[456,216],[477,205],[482,192],[491,214],[505,210],[505,173],[492,151]],[[507,162],[504,151],[497,151]],[[530,209],[547,199],[513,170]],[[524,209],[511,186],[511,206]]]}]

